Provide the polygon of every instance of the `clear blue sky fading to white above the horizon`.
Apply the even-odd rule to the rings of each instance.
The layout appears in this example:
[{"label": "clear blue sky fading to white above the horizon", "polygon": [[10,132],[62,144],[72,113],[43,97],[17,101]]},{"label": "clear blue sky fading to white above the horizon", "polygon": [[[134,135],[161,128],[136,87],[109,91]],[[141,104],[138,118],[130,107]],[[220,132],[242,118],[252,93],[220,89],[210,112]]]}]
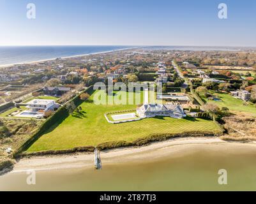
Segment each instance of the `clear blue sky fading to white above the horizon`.
[{"label": "clear blue sky fading to white above the horizon", "polygon": [[[227,19],[218,18],[220,3]],[[255,36],[255,0],[0,0],[0,46],[256,47]]]}]

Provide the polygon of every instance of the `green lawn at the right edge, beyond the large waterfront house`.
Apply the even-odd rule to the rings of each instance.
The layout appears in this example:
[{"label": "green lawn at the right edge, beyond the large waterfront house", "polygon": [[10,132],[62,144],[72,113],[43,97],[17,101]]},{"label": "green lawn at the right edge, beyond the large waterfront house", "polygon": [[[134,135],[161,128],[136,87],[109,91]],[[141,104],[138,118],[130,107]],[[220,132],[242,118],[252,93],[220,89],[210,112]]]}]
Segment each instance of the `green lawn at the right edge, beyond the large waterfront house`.
[{"label": "green lawn at the right edge, beyond the large waterfront house", "polygon": [[222,99],[221,102],[218,101],[207,101],[207,99],[203,96],[201,96],[205,101],[208,103],[215,103],[220,108],[227,107],[229,110],[234,112],[245,112],[249,113],[250,115],[256,116],[256,107],[255,104],[249,103],[248,106],[243,105],[244,101],[241,99],[234,98],[230,96],[229,94],[223,94],[223,93],[216,93],[211,92],[212,94],[215,94],[218,98]]}]

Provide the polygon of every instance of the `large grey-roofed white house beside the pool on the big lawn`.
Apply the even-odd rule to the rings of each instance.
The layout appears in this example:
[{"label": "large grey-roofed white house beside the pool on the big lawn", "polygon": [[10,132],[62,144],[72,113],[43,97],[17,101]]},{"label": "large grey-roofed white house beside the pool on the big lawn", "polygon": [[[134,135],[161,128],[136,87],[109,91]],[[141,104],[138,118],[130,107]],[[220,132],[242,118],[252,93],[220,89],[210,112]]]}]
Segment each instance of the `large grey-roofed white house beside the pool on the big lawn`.
[{"label": "large grey-roofed white house beside the pool on the big lawn", "polygon": [[182,119],[186,116],[180,105],[174,104],[144,104],[137,108],[137,114],[140,118],[169,116],[176,119]]}]

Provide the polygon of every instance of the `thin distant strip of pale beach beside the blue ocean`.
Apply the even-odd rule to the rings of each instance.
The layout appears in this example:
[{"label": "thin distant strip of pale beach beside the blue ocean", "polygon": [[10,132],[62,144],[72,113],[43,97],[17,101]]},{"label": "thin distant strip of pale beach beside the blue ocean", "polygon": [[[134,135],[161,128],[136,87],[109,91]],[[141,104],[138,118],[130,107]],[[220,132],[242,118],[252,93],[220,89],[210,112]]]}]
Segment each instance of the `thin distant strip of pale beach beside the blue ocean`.
[{"label": "thin distant strip of pale beach beside the blue ocean", "polygon": [[93,52],[93,53],[89,53],[89,54],[80,54],[80,55],[71,55],[71,56],[66,56],[66,57],[54,57],[54,58],[50,58],[50,59],[41,59],[41,60],[38,60],[38,61],[27,61],[27,62],[18,62],[18,63],[11,63],[11,64],[0,64],[0,68],[8,68],[8,67],[12,67],[12,66],[21,66],[23,64],[37,64],[37,63],[40,63],[40,62],[54,61],[57,58],[59,58],[59,59],[70,59],[70,58],[73,58],[73,57],[84,57],[84,56],[89,56],[89,55],[105,54],[105,53],[117,52],[117,51],[123,51],[123,50],[130,50],[130,49],[135,49],[135,48],[139,48],[139,47],[121,48],[121,49],[117,49],[117,50],[109,50],[109,51],[103,51],[103,52]]}]

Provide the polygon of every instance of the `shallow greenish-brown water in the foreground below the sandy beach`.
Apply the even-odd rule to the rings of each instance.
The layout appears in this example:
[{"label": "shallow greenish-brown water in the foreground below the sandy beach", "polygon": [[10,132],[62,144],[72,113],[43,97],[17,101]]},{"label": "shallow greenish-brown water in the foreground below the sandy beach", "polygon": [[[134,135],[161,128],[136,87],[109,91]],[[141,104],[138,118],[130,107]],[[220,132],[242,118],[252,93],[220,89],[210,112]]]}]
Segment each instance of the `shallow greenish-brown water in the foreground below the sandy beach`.
[{"label": "shallow greenish-brown water in the foreground below the sandy beach", "polygon": [[[242,144],[243,145],[243,144]],[[157,152],[156,152],[157,154]],[[0,190],[21,191],[255,191],[256,147],[234,151],[204,148],[161,161],[104,164],[91,168],[36,172],[27,185],[26,172],[0,177]],[[227,185],[218,184],[218,170],[227,170]]]}]

